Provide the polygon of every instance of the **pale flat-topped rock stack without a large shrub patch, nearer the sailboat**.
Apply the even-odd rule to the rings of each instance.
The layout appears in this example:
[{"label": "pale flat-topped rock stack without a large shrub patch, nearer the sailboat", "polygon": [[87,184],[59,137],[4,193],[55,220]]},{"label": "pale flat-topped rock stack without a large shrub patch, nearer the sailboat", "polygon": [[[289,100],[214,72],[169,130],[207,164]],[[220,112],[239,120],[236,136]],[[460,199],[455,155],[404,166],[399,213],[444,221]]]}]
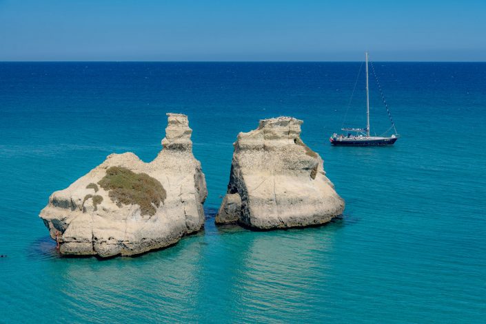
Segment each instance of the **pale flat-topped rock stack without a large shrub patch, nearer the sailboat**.
[{"label": "pale flat-topped rock stack without a large shrub patch, nearer the sailboat", "polygon": [[325,176],[323,160],[300,138],[301,124],[272,118],[239,133],[216,224],[270,230],[325,224],[343,213],[344,201]]}]

